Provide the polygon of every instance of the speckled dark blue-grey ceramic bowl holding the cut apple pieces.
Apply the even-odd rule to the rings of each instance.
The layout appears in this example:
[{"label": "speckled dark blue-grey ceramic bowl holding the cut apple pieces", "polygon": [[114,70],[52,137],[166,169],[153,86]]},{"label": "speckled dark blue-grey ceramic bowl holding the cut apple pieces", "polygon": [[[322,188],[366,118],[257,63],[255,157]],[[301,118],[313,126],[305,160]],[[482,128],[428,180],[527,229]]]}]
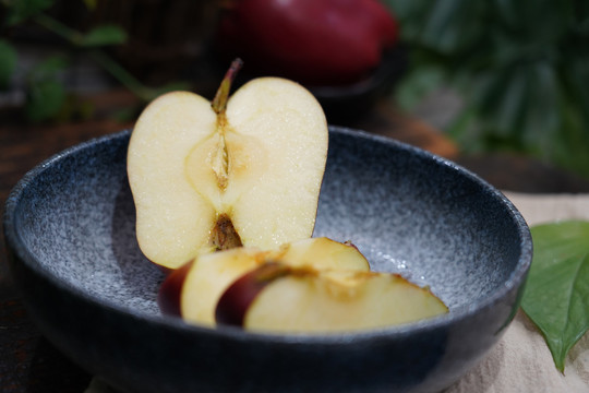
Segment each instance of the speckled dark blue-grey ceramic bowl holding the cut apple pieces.
[{"label": "speckled dark blue-grey ceramic bowl holding the cut apple pieces", "polygon": [[129,132],[28,172],[4,230],[29,314],[64,354],[127,392],[435,392],[501,337],[532,245],[497,190],[430,153],[330,129],[316,236],[351,239],[373,269],[428,284],[444,317],[340,335],[264,335],[163,317],[164,274],[137,248]]}]

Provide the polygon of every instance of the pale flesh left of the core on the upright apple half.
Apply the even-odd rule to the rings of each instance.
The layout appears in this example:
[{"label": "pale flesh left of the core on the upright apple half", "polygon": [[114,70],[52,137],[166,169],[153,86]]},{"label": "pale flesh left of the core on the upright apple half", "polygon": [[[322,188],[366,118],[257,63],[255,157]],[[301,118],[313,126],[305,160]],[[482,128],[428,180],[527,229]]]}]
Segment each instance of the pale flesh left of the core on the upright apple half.
[{"label": "pale flesh left of the core on the upright apple half", "polygon": [[155,99],[135,124],[127,171],[139,246],[155,263],[176,269],[209,236],[215,206],[187,179],[185,163],[194,146],[215,130],[211,104],[188,92]]}]

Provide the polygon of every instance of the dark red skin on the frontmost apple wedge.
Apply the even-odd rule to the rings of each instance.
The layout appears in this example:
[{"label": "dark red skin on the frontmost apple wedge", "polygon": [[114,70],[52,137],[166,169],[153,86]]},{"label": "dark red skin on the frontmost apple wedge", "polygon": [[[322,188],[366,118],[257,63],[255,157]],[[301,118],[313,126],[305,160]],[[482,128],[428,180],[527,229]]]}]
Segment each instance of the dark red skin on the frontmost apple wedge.
[{"label": "dark red skin on the frontmost apple wedge", "polygon": [[242,326],[245,313],[255,297],[290,267],[279,262],[266,262],[236,279],[221,295],[215,309],[218,324]]}]

